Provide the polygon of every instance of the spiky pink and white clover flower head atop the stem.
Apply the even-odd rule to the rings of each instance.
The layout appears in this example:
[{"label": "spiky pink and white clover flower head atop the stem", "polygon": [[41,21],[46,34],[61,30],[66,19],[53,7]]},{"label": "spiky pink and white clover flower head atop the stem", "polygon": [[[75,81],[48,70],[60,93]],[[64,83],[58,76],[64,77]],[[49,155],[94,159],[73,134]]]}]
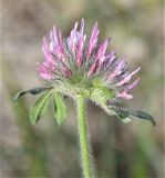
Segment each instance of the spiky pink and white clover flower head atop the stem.
[{"label": "spiky pink and white clover flower head atop the stem", "polygon": [[[62,81],[71,85],[85,83],[93,87],[99,78],[101,85],[113,90],[116,98],[132,99],[131,90],[137,86],[140,78],[132,81],[141,68],[130,72],[125,57],[118,58],[112,50],[106,52],[110,40],[99,43],[97,23],[91,37],[84,33],[84,19],[74,23],[70,36],[63,38],[54,26],[49,41],[43,38],[42,50],[44,61],[38,65],[40,76],[51,82]],[[80,85],[81,86],[81,85]],[[81,86],[82,87],[82,86]]]}]

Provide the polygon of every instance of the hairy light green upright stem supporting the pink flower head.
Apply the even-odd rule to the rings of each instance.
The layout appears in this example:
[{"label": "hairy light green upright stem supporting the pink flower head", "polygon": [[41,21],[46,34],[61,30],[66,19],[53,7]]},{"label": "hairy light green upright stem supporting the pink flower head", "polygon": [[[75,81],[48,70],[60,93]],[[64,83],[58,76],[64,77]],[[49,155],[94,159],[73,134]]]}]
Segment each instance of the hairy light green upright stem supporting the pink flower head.
[{"label": "hairy light green upright stem supporting the pink flower head", "polygon": [[76,98],[76,102],[78,102],[79,138],[80,138],[83,175],[84,178],[92,178],[89,140],[87,140],[87,126],[85,118],[85,97],[83,95],[79,95]]}]

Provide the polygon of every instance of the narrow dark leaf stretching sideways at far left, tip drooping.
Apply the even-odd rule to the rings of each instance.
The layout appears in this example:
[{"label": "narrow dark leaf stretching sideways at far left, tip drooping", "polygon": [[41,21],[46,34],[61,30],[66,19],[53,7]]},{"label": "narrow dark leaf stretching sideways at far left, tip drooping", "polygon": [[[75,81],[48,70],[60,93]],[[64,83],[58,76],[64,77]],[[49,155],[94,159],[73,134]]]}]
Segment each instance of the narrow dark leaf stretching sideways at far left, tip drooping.
[{"label": "narrow dark leaf stretching sideways at far left, tip drooping", "polygon": [[31,95],[38,95],[44,90],[49,90],[52,87],[38,87],[38,88],[32,88],[29,90],[23,90],[23,91],[19,91],[18,93],[16,93],[16,96],[13,97],[13,102],[18,102],[18,100],[25,93],[31,93]]}]

